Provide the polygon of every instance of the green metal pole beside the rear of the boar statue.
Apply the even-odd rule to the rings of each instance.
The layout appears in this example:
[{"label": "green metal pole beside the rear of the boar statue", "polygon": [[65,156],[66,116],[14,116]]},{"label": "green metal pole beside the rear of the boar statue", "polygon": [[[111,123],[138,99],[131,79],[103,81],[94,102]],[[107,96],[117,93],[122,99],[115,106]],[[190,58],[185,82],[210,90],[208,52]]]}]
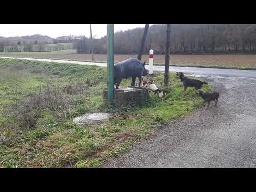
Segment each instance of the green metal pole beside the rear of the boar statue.
[{"label": "green metal pole beside the rear of the boar statue", "polygon": [[108,36],[108,102],[114,101],[114,24],[107,24]]}]

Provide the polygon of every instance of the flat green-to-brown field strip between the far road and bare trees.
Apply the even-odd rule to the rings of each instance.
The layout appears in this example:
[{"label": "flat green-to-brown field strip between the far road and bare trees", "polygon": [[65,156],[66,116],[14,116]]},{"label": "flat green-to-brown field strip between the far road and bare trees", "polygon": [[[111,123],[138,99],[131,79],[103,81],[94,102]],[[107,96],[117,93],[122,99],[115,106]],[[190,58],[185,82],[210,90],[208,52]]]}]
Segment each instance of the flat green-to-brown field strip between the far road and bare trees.
[{"label": "flat green-to-brown field strip between the far road and bare trees", "polygon": [[[78,61],[91,61],[90,54],[78,54],[76,50],[63,50],[52,52],[34,53],[0,53],[9,57],[29,57],[43,59],[65,59]],[[122,61],[137,55],[115,54],[115,61]],[[177,66],[206,66],[220,68],[256,68],[256,55],[171,55],[171,65]],[[143,55],[142,60],[148,62],[148,55]],[[94,54],[94,61],[107,61],[106,54]],[[165,55],[154,55],[155,65],[164,65]]]}]

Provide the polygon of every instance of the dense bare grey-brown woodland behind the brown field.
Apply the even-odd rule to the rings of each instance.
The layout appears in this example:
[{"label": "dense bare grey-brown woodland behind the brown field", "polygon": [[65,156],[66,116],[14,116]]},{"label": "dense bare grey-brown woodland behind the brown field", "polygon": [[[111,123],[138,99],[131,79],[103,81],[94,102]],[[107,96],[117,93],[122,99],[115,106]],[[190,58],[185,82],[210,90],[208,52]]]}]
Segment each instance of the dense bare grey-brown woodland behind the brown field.
[{"label": "dense bare grey-brown woodland behind the brown field", "polygon": [[[119,31],[114,35],[116,54],[138,54],[143,28]],[[171,54],[255,53],[255,24],[172,24]],[[90,53],[90,39],[76,39],[77,52]],[[93,39],[94,53],[107,53],[107,37]],[[145,53],[165,54],[166,25],[151,25]]]}]

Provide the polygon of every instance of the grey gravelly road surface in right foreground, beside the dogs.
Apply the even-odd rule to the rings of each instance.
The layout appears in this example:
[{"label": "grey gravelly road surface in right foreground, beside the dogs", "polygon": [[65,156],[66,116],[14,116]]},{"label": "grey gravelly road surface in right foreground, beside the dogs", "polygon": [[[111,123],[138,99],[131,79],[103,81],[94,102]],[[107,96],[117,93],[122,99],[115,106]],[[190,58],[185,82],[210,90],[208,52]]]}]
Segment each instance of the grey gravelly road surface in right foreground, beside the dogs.
[{"label": "grey gravelly road surface in right foreground, beside the dogs", "polygon": [[103,167],[256,167],[256,79],[208,78],[217,107],[158,130]]}]

